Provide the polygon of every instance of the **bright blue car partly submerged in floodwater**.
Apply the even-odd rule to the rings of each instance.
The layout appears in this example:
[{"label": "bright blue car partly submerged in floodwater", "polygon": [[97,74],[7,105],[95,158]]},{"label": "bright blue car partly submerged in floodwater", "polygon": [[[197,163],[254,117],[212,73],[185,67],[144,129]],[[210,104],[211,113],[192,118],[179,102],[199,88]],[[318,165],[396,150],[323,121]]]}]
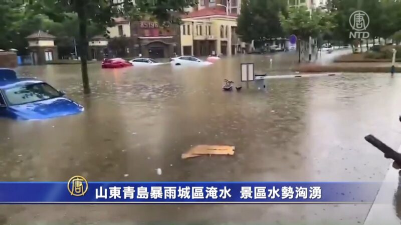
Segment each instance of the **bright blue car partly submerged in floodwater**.
[{"label": "bright blue car partly submerged in floodwater", "polygon": [[48,119],[84,111],[64,95],[44,81],[18,78],[14,70],[0,68],[0,117]]}]

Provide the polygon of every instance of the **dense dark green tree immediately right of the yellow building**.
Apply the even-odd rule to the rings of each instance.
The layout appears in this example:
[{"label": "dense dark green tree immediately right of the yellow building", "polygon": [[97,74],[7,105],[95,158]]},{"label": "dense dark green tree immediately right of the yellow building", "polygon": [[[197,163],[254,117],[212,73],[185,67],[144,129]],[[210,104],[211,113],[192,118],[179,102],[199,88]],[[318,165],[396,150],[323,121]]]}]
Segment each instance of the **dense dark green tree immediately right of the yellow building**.
[{"label": "dense dark green tree immediately right of the yellow building", "polygon": [[286,14],[287,0],[243,0],[238,17],[238,34],[245,42],[282,37],[280,13]]}]

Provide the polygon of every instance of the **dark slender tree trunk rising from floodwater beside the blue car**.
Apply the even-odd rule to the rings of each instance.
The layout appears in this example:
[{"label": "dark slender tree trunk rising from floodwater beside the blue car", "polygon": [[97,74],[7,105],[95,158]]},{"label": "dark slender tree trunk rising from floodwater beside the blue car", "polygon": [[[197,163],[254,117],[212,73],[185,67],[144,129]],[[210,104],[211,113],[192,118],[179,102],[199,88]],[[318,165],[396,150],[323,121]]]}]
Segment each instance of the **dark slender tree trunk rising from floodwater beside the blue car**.
[{"label": "dark slender tree trunk rising from floodwater beside the blue car", "polygon": [[87,16],[85,9],[86,0],[77,0],[76,9],[78,13],[79,20],[79,43],[78,47],[80,49],[79,56],[81,57],[81,72],[82,72],[82,83],[84,86],[84,93],[88,94],[91,92],[89,86],[88,77],[88,65],[87,65],[87,54],[88,54],[88,37],[87,37]]}]

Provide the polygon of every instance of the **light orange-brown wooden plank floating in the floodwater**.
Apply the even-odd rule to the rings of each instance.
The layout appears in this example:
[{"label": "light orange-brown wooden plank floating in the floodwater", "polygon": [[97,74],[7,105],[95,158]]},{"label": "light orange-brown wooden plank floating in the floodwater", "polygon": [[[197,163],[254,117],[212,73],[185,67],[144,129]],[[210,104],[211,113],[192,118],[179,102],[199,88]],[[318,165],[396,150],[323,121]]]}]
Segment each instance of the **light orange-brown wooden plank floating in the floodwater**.
[{"label": "light orange-brown wooden plank floating in the floodwater", "polygon": [[187,152],[181,154],[181,158],[198,157],[205,154],[234,155],[235,146],[229,145],[196,145]]}]

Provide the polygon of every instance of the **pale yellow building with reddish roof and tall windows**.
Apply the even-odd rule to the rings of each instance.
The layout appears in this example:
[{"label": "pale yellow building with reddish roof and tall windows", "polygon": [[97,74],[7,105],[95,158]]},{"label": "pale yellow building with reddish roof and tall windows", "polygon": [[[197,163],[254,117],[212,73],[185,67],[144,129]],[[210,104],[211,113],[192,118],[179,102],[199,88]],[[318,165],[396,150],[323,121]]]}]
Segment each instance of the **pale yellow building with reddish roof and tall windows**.
[{"label": "pale yellow building with reddish roof and tall windows", "polygon": [[181,52],[196,56],[235,54],[241,44],[236,30],[237,14],[227,14],[220,8],[192,11],[182,17]]}]

